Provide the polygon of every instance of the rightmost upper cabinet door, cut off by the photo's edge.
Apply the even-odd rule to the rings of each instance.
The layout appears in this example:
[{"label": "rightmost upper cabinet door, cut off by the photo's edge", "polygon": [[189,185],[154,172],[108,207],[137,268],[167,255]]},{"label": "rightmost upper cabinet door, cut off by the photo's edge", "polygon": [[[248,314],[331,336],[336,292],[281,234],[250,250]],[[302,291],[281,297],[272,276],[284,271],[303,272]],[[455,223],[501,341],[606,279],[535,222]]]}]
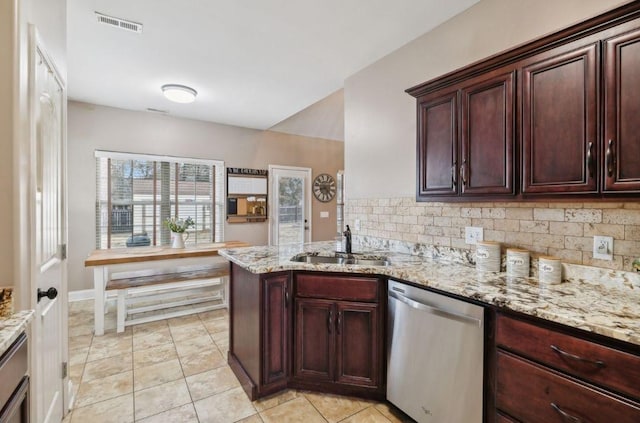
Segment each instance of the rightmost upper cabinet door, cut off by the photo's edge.
[{"label": "rightmost upper cabinet door, cut off by the photo's edge", "polygon": [[640,191],[640,30],[604,49],[604,191]]}]

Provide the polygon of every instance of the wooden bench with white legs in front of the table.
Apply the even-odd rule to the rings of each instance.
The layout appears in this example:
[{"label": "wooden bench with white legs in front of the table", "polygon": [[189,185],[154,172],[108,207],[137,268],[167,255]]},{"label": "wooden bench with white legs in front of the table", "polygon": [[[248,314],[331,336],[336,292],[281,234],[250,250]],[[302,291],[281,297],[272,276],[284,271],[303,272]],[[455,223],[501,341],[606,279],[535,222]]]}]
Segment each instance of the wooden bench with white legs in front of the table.
[{"label": "wooden bench with white legs in front of the table", "polygon": [[[123,332],[134,324],[226,308],[228,275],[226,261],[113,273],[105,291],[117,292],[116,331]],[[216,304],[210,304],[213,301]],[[151,314],[156,311],[160,312]],[[145,315],[135,317],[142,313]]]}]

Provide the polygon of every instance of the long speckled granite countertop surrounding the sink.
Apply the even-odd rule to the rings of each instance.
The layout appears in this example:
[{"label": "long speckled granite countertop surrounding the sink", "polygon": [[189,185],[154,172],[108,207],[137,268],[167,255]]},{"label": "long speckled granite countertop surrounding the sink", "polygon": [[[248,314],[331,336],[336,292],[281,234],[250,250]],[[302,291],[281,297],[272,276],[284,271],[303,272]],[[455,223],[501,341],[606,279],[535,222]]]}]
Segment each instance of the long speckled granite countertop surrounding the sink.
[{"label": "long speckled granite countertop surrounding the sink", "polygon": [[537,278],[478,272],[469,261],[465,263],[469,257],[442,259],[375,249],[359,249],[358,253],[384,255],[390,266],[291,261],[303,252],[332,255],[334,246],[331,242],[315,242],[234,248],[220,250],[220,255],[252,273],[311,270],[384,275],[640,345],[640,277],[635,274],[564,265],[563,283],[542,285]]}]

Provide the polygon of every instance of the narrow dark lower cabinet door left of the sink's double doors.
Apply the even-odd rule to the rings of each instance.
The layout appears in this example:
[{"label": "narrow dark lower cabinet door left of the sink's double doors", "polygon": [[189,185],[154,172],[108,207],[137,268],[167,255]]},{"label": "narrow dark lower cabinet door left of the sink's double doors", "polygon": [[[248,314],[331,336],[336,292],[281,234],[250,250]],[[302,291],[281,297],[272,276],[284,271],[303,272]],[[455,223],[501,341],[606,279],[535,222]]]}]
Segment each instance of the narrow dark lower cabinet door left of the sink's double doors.
[{"label": "narrow dark lower cabinet door left of the sink's double doors", "polygon": [[263,280],[264,348],[263,384],[286,380],[288,375],[289,299],[288,275]]}]

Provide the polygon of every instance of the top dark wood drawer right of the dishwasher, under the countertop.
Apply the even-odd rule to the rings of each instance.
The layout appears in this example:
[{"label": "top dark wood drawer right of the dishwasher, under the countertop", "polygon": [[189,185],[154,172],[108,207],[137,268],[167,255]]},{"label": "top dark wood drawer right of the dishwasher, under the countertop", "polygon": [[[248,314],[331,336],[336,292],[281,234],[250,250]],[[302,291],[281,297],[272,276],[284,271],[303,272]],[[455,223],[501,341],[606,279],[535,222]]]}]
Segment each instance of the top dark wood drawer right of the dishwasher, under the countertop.
[{"label": "top dark wood drawer right of the dishwasher, under the countertop", "polygon": [[500,315],[496,342],[535,361],[640,399],[640,357]]}]

